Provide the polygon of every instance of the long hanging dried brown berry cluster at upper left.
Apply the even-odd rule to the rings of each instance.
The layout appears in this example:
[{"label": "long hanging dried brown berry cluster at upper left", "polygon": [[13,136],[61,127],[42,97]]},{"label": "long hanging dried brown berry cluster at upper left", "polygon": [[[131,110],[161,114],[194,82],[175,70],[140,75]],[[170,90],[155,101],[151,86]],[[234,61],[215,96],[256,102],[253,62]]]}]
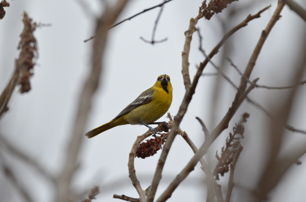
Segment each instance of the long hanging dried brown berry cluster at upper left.
[{"label": "long hanging dried brown berry cluster at upper left", "polygon": [[21,49],[17,67],[20,69],[20,92],[28,92],[31,89],[30,77],[33,75],[32,69],[35,65],[34,59],[37,58],[37,42],[33,32],[36,29],[36,23],[28,17],[26,12],[23,13],[24,28],[20,34],[20,42],[17,49]]}]

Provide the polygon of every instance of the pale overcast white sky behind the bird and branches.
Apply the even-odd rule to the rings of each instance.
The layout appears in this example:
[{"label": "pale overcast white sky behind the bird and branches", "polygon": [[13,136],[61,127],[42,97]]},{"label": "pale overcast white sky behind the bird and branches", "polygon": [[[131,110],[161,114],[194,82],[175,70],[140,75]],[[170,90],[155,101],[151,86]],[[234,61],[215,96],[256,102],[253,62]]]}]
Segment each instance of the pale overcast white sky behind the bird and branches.
[{"label": "pale overcast white sky behind the bird and branches", "polygon": [[[19,34],[22,30],[22,11],[27,11],[29,16],[37,22],[50,23],[51,27],[38,28],[35,36],[38,40],[39,58],[38,65],[34,68],[31,79],[32,90],[20,95],[17,90],[9,103],[10,110],[0,121],[0,132],[17,147],[30,156],[40,161],[48,170],[56,174],[61,169],[63,153],[65,153],[69,139],[74,115],[78,104],[80,88],[90,68],[90,54],[92,42],[84,43],[83,40],[92,36],[94,20],[88,17],[76,0],[44,1],[23,0],[9,1],[11,6],[4,19],[0,21],[0,90],[7,84],[13,70],[14,58],[18,57],[16,47]],[[161,1],[131,0],[118,20],[133,15],[144,8],[153,6]],[[250,1],[233,2],[229,7],[244,8]],[[304,0],[296,0],[306,7]],[[100,126],[113,119],[126,105],[133,101],[142,91],[150,88],[158,75],[166,73],[171,77],[173,85],[173,102],[169,109],[172,115],[178,111],[185,88],[181,75],[181,51],[184,43],[184,31],[187,29],[189,19],[196,17],[201,1],[173,0],[164,7],[160,23],[155,35],[156,40],[168,38],[168,41],[154,46],[146,44],[139,39],[140,36],[151,39],[151,32],[159,9],[146,12],[130,21],[127,21],[109,32],[104,69],[101,75],[100,86],[94,97],[94,103],[86,130]],[[248,62],[254,45],[257,43],[261,30],[263,30],[272,16],[277,1],[259,1],[254,6],[238,11],[233,18],[228,19],[227,31],[241,22],[249,13],[255,14],[271,3],[271,8],[262,14],[259,19],[252,20],[232,36],[229,55],[240,69],[244,69]],[[88,4],[96,15],[99,14],[98,0],[89,0]],[[229,8],[228,8],[229,9]],[[227,12],[218,14],[226,19]],[[303,37],[305,37],[306,24],[287,6],[281,13],[281,20],[272,29],[263,50],[259,55],[251,79],[260,77],[259,84],[287,85],[291,84],[286,78],[292,72],[292,58],[298,54]],[[198,26],[203,35],[203,47],[209,52],[223,36],[220,20],[217,15],[211,20],[200,19]],[[198,51],[199,40],[195,34],[190,52],[190,75],[196,72],[196,64],[203,60]],[[220,65],[220,53],[214,61]],[[239,75],[227,64],[227,75],[238,84]],[[279,71],[275,75],[275,71]],[[204,72],[215,72],[210,65]],[[200,124],[195,117],[199,116],[208,124],[209,130],[215,126],[211,120],[212,85],[216,77],[203,77],[200,79],[196,94],[193,96],[190,107],[185,115],[181,128],[186,131],[196,146],[204,140]],[[289,82],[289,83],[288,83]],[[222,81],[222,96],[213,101],[218,104],[215,120],[219,121],[231,105],[236,90],[226,81]],[[290,123],[295,127],[306,130],[306,106],[303,97],[306,97],[305,86],[300,88],[294,116]],[[255,89],[250,97],[269,108],[275,102],[273,97],[281,99],[283,91],[268,91]],[[285,94],[286,95],[286,94]],[[242,151],[236,172],[239,178],[236,183],[248,188],[253,188],[264,163],[262,156],[265,150],[264,136],[267,131],[264,122],[268,119],[256,108],[244,103],[230,122],[229,129],[224,131],[211,149],[212,166],[215,163],[214,153],[224,144],[227,134],[232,126],[239,120],[240,114],[249,112],[251,117],[246,126],[243,144],[246,149]],[[304,117],[304,118],[303,118]],[[162,117],[160,121],[168,121]],[[125,194],[137,197],[137,192],[128,178],[128,153],[137,135],[143,134],[143,126],[125,125],[115,127],[87,139],[84,136],[80,168],[74,178],[76,189],[91,188],[93,185],[105,186],[96,201],[119,201],[112,199],[113,194]],[[86,132],[86,131],[85,131]],[[306,137],[294,134],[288,145],[290,149],[299,142],[305,143]],[[290,144],[289,144],[290,143]],[[135,159],[135,167],[143,188],[151,183],[160,151],[153,157]],[[177,136],[167,158],[163,176],[157,196],[182,170],[192,157],[192,150]],[[9,158],[8,158],[9,159]],[[252,161],[250,161],[252,159]],[[302,158],[303,161],[306,160]],[[10,160],[10,159],[9,159]],[[250,161],[250,162],[249,162]],[[243,162],[248,162],[247,164]],[[20,176],[21,181],[36,198],[36,201],[51,202],[54,190],[41,176],[19,161],[10,164]],[[239,165],[241,165],[239,167]],[[294,166],[285,176],[280,186],[273,191],[271,201],[303,201],[306,197],[306,165],[303,163]],[[197,165],[188,178],[174,191],[169,201],[203,201],[206,187],[201,183],[205,179],[204,173]],[[226,193],[227,179],[221,180]],[[288,183],[290,186],[288,186]],[[108,187],[114,185],[113,187]],[[234,188],[232,201],[248,201],[245,196],[235,195]],[[0,195],[3,201],[24,201],[11,183],[0,174]],[[244,192],[248,193],[248,192]],[[250,194],[250,193],[249,193]],[[2,197],[4,196],[4,197]]]}]

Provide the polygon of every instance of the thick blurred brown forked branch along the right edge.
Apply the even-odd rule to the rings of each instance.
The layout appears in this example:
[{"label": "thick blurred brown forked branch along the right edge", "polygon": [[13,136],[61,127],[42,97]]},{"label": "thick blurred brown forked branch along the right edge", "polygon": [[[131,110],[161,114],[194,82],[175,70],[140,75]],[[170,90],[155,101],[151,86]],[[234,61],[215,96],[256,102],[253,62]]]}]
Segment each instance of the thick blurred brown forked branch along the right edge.
[{"label": "thick blurred brown forked branch along the right edge", "polygon": [[[294,74],[288,77],[290,82],[295,83],[301,80],[302,76],[306,72],[306,58],[301,55],[306,54],[306,39],[300,43],[300,47],[297,50],[300,55],[296,55],[292,61],[292,71]],[[306,153],[306,142],[300,145],[295,145],[289,149],[288,152],[283,154],[282,146],[288,142],[286,138],[286,131],[284,130],[287,125],[286,122],[290,120],[291,113],[294,110],[295,99],[299,97],[298,86],[290,89],[286,97],[281,102],[273,102],[273,109],[278,121],[271,120],[268,123],[268,147],[266,165],[263,168],[263,173],[260,176],[257,187],[254,191],[257,201],[263,201],[268,199],[272,189],[280,182],[286,171],[295,164],[295,162]]]}]

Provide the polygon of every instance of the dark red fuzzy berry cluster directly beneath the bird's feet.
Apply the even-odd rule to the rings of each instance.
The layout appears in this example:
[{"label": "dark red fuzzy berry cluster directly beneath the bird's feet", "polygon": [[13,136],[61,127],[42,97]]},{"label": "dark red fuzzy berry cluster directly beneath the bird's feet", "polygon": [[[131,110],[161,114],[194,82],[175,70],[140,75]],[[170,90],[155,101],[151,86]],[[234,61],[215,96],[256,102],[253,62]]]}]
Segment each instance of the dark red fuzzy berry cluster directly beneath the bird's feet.
[{"label": "dark red fuzzy berry cluster directly beneath the bird's feet", "polygon": [[164,144],[166,138],[167,136],[165,134],[161,134],[160,136],[156,136],[154,139],[146,140],[146,142],[139,144],[136,157],[146,158],[153,156],[161,149],[161,145]]}]

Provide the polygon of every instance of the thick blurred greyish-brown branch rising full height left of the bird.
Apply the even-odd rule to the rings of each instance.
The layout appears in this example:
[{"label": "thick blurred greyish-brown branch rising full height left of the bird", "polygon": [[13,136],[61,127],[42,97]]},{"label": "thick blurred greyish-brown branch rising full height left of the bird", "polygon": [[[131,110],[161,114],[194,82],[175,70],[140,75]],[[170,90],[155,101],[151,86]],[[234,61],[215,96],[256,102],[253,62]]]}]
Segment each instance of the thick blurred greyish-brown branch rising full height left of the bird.
[{"label": "thick blurred greyish-brown branch rising full height left of the bird", "polygon": [[71,180],[77,166],[77,158],[84,138],[84,128],[91,109],[92,97],[99,84],[102,71],[102,58],[107,41],[107,32],[126,6],[127,2],[128,0],[117,0],[114,6],[106,8],[104,13],[97,19],[95,30],[96,37],[92,45],[92,68],[85,81],[83,90],[80,93],[78,112],[74,121],[74,126],[71,130],[67,156],[64,160],[63,169],[57,178],[56,202],[67,202],[70,201],[72,197],[70,190]]}]

